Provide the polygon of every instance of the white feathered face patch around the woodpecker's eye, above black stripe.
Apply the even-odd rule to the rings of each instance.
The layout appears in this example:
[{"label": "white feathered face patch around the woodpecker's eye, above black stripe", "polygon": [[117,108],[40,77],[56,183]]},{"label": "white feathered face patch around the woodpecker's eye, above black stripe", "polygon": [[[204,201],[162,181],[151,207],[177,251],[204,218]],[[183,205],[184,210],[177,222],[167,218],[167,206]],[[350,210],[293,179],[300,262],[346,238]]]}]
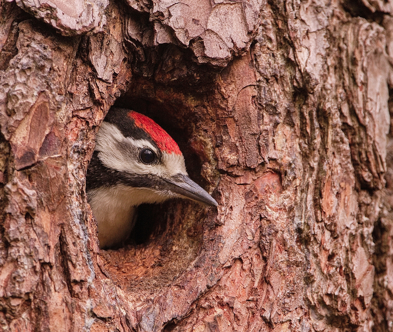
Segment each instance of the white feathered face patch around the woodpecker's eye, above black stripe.
[{"label": "white feathered face patch around the woodpecker's eye, above black stripe", "polygon": [[104,121],[97,133],[95,151],[98,151],[99,159],[108,168],[164,178],[178,173],[187,175],[183,155],[162,151],[162,162],[146,165],[138,160],[137,151],[140,148],[149,148],[157,153],[157,149],[149,141],[124,137],[116,125],[108,122]]}]

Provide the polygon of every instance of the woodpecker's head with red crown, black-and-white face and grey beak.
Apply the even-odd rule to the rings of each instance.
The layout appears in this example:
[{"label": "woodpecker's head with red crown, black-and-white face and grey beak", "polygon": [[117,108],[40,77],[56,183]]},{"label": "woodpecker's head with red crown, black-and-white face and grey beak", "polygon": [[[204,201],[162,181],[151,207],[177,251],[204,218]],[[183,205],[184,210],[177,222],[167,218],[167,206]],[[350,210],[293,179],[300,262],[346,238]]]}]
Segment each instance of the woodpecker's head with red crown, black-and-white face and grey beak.
[{"label": "woodpecker's head with red crown, black-and-white face and grey beak", "polygon": [[129,109],[112,108],[97,133],[86,192],[103,187],[132,189],[129,199],[134,206],[171,197],[218,206],[188,177],[173,138],[152,119]]}]

